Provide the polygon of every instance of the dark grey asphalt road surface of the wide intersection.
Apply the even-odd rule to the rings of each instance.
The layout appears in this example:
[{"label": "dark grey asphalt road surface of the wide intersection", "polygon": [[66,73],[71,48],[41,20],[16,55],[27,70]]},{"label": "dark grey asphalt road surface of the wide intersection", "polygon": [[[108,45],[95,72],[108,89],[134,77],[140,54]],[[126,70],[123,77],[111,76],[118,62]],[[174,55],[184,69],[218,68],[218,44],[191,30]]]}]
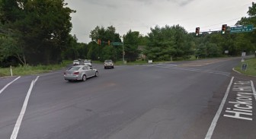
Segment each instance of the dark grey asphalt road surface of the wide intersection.
[{"label": "dark grey asphalt road surface of the wide intersection", "polygon": [[232,71],[240,60],[93,64],[99,76],[85,82],[64,70],[0,78],[0,138],[255,138],[256,80]]}]

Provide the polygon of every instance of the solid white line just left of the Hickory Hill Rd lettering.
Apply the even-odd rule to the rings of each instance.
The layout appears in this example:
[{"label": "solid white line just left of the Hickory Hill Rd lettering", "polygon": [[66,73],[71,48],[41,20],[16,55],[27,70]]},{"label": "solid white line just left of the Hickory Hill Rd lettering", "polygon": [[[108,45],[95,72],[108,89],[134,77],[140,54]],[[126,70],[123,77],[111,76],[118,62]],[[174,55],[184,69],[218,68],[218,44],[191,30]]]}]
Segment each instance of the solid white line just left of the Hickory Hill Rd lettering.
[{"label": "solid white line just left of the Hickory Hill Rd lettering", "polygon": [[208,132],[206,134],[205,139],[210,139],[212,137],[212,135],[213,135],[213,131],[214,131],[216,125],[217,125],[217,122],[218,122],[218,119],[219,119],[219,115],[222,112],[223,106],[226,103],[226,99],[227,99],[227,97],[229,95],[229,90],[230,90],[230,87],[232,86],[233,80],[234,80],[234,77],[232,77],[232,79],[231,79],[231,81],[229,83],[229,87],[227,88],[225,96],[222,99],[222,103],[220,103],[219,109],[218,109],[218,111],[216,112],[216,115],[213,118],[213,122],[210,125],[210,128],[209,128],[209,130],[208,130]]}]

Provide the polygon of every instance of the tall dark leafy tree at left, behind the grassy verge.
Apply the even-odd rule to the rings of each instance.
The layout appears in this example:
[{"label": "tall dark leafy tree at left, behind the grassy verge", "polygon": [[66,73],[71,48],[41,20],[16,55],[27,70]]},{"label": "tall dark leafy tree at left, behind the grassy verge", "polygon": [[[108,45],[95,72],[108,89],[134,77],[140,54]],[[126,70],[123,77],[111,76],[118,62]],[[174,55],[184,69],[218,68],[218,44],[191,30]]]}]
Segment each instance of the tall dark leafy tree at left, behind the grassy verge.
[{"label": "tall dark leafy tree at left, behind the grassy verge", "polygon": [[2,0],[1,24],[14,30],[27,62],[32,65],[61,61],[72,28],[64,0]]}]

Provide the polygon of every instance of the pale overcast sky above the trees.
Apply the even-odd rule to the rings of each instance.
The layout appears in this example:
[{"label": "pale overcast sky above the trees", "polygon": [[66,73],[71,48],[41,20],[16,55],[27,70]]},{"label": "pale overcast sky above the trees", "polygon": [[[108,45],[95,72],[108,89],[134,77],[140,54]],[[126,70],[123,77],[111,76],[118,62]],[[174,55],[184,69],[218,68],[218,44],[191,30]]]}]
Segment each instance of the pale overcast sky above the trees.
[{"label": "pale overcast sky above the trees", "polygon": [[96,26],[116,27],[120,35],[130,29],[147,35],[150,27],[180,24],[188,32],[196,27],[220,30],[222,24],[234,26],[248,16],[251,0],[65,0],[72,14],[72,34],[78,42],[89,43]]}]

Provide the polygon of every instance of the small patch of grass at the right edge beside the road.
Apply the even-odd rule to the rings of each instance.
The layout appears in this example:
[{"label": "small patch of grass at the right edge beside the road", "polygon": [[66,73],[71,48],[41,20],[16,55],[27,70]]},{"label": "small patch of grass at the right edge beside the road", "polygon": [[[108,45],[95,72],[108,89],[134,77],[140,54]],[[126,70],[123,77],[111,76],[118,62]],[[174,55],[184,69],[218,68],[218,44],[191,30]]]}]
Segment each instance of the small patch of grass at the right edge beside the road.
[{"label": "small patch of grass at the right edge beside the road", "polygon": [[[247,64],[246,71],[242,71],[242,64]],[[246,59],[245,62],[241,62],[235,67],[235,71],[246,75],[256,76],[256,58]]]}]

